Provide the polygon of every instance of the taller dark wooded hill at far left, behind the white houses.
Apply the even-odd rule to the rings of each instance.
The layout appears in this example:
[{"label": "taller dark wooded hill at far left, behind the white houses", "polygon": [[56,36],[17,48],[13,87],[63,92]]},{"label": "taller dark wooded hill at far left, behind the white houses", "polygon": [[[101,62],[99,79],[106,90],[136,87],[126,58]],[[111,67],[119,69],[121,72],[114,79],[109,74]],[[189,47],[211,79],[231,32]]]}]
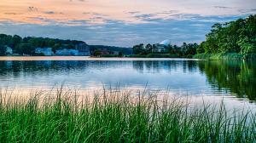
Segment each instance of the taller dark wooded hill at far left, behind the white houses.
[{"label": "taller dark wooded hill at far left, behind the white houses", "polygon": [[0,34],[0,55],[5,54],[7,47],[13,49],[15,54],[32,55],[36,48],[50,47],[55,52],[56,49],[74,49],[76,44],[84,43],[77,40],[61,40],[49,37],[20,37]]}]

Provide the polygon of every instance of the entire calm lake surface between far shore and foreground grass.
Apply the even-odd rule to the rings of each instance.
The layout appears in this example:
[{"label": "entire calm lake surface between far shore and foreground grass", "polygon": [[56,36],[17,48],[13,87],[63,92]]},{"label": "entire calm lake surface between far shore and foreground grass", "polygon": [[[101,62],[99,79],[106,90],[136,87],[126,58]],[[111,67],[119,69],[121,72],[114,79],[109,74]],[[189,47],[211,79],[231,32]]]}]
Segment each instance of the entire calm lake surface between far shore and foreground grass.
[{"label": "entire calm lake surface between far shore and foreground grass", "polygon": [[0,88],[96,90],[118,86],[200,100],[225,99],[255,105],[256,63],[178,59],[91,59],[85,57],[1,58]]}]

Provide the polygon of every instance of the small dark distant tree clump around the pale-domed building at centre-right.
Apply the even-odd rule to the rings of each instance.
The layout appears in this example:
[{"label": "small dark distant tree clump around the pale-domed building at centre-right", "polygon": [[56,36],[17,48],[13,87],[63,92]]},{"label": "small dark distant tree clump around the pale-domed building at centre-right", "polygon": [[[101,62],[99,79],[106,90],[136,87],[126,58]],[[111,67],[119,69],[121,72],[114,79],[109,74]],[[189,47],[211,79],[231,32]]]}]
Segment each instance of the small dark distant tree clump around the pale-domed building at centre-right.
[{"label": "small dark distant tree clump around the pale-domed building at centre-right", "polygon": [[137,44],[133,46],[133,54],[172,54],[176,55],[177,57],[186,57],[192,58],[193,55],[196,54],[196,49],[198,49],[199,45],[197,43],[183,43],[181,46],[177,46],[176,44],[165,46],[165,50],[157,51],[156,44],[150,44],[144,46],[143,43]]}]

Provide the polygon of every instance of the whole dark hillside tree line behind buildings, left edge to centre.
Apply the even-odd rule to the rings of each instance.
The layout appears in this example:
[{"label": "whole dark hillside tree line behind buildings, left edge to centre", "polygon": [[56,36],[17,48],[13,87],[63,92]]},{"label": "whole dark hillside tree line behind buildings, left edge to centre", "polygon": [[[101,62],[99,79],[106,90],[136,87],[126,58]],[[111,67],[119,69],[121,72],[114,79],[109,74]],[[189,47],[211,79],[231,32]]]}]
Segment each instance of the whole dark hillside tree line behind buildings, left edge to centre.
[{"label": "whole dark hillside tree line behind buildings, left edge to centre", "polygon": [[[84,43],[77,40],[61,40],[58,38],[49,37],[20,37],[18,35],[10,36],[6,34],[0,34],[0,55],[6,53],[7,47],[13,49],[15,54],[29,54],[34,55],[36,48],[52,48],[53,52],[57,49],[75,49],[77,44]],[[86,43],[84,43],[86,44]],[[107,49],[109,54],[113,54],[114,51],[119,52],[119,56],[123,54],[131,54],[131,48],[120,48],[115,46],[105,45],[90,45],[90,51],[95,52],[97,50]]]}]

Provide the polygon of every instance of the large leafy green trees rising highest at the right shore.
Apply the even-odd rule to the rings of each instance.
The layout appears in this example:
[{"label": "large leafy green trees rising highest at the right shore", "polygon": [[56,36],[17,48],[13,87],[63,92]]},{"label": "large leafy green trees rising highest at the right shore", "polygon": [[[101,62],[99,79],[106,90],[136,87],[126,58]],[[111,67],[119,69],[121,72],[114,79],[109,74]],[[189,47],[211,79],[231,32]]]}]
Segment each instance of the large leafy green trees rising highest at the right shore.
[{"label": "large leafy green trees rising highest at the right shore", "polygon": [[197,53],[236,53],[242,54],[244,58],[256,54],[256,14],[246,19],[214,24]]}]

